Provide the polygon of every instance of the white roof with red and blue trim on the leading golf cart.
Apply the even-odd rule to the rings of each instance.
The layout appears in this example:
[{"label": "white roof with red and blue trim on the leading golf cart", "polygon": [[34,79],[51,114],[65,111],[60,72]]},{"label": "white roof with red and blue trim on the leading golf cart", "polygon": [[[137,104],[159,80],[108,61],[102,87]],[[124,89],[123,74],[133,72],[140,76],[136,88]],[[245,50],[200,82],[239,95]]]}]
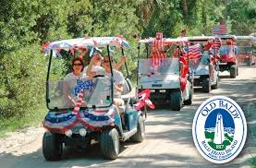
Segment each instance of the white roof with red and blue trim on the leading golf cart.
[{"label": "white roof with red and blue trim on the leading golf cart", "polygon": [[128,42],[122,37],[91,37],[50,42],[45,49],[48,51],[69,50],[72,48],[105,47],[107,45],[129,48]]}]

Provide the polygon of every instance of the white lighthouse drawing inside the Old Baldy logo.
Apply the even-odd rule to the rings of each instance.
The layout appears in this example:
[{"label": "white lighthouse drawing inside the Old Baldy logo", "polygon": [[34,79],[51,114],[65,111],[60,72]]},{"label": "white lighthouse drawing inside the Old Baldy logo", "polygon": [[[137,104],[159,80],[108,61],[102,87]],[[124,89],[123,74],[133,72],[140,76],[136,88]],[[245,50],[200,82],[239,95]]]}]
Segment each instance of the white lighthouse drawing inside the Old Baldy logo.
[{"label": "white lighthouse drawing inside the Old Baldy logo", "polygon": [[225,136],[224,136],[223,117],[222,117],[222,114],[217,114],[213,142],[214,144],[222,144],[224,140],[225,140]]}]

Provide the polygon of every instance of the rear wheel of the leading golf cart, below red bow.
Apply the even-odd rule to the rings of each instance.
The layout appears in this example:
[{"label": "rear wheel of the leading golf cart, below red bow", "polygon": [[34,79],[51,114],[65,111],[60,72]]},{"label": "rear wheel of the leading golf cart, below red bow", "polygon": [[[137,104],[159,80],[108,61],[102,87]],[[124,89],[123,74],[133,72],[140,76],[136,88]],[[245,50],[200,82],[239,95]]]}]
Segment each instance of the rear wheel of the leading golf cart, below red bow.
[{"label": "rear wheel of the leading golf cart, below red bow", "polygon": [[130,139],[135,142],[142,142],[145,138],[145,121],[140,115],[137,125],[137,132]]}]

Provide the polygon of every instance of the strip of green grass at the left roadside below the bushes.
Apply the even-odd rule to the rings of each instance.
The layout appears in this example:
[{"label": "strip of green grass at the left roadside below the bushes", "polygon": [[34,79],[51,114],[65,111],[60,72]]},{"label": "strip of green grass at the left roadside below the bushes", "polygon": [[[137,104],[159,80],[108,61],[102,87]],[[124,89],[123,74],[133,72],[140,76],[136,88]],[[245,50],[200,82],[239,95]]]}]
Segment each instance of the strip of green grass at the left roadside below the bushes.
[{"label": "strip of green grass at the left roadside below the bushes", "polygon": [[35,111],[26,114],[24,117],[10,117],[7,119],[0,118],[0,138],[6,136],[6,133],[23,129],[29,126],[39,126],[43,121],[47,109],[45,106],[40,106]]}]

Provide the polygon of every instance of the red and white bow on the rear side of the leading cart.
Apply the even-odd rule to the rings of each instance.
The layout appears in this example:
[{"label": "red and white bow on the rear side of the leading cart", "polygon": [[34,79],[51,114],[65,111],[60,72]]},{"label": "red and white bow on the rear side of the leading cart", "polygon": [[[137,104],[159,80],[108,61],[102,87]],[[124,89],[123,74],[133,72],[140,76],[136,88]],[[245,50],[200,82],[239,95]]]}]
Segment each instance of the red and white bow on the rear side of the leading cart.
[{"label": "red and white bow on the rear side of the leading cart", "polygon": [[154,104],[149,99],[150,94],[151,90],[149,89],[142,90],[140,93],[137,94],[137,96],[139,97],[139,101],[133,104],[136,110],[140,111],[140,109],[145,105],[148,105],[151,109],[155,108]]}]

